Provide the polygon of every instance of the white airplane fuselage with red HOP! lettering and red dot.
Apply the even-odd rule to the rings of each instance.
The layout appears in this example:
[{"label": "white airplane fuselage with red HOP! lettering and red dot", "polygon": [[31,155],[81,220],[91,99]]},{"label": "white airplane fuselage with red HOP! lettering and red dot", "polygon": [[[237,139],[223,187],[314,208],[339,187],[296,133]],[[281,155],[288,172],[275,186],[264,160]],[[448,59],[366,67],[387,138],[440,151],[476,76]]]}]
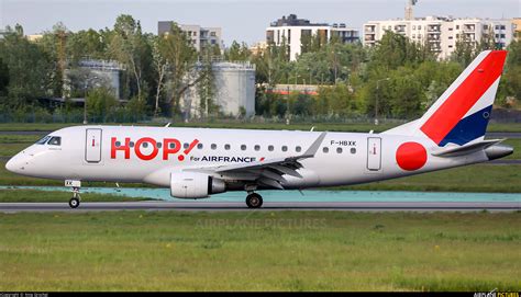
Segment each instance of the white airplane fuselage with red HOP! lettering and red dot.
[{"label": "white airplane fuselage with red HOP! lettering and red dot", "polygon": [[[169,186],[171,172],[297,156],[319,135],[290,130],[76,126],[51,134],[60,137],[59,146],[33,145],[13,158],[10,167],[16,173],[44,179]],[[399,149],[404,144],[417,144],[420,150],[424,149],[424,157],[408,156],[407,150]],[[282,186],[367,183],[489,160],[483,150],[459,158],[435,157],[431,155],[435,148],[425,138],[328,133],[314,158],[301,161],[303,168],[298,172],[302,178],[285,175]],[[233,174],[218,178],[229,181],[229,191],[244,190],[244,182],[234,183]]]}]

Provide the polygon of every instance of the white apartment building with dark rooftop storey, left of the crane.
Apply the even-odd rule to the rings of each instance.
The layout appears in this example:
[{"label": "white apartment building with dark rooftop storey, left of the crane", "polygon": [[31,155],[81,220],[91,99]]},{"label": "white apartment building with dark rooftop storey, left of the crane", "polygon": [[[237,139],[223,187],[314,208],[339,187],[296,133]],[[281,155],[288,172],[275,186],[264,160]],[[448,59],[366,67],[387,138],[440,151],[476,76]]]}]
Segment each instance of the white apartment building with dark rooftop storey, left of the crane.
[{"label": "white apartment building with dark rooftop storey, left of the crane", "polygon": [[301,54],[302,36],[319,35],[323,41],[339,36],[343,43],[356,43],[359,41],[358,31],[350,28],[345,23],[311,23],[309,20],[298,19],[296,14],[282,16],[273,22],[266,28],[266,43],[280,45],[282,42],[289,47],[290,60],[296,60]]}]

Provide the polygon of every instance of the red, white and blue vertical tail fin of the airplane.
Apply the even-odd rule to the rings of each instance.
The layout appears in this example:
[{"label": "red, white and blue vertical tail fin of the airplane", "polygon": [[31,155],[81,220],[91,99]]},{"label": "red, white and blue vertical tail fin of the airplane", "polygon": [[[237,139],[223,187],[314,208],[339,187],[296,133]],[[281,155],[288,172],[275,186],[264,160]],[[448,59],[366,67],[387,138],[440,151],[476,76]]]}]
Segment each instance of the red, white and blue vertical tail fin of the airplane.
[{"label": "red, white and blue vertical tail fin of the airplane", "polygon": [[506,57],[506,50],[483,52],[420,119],[385,134],[426,136],[440,147],[483,139]]}]

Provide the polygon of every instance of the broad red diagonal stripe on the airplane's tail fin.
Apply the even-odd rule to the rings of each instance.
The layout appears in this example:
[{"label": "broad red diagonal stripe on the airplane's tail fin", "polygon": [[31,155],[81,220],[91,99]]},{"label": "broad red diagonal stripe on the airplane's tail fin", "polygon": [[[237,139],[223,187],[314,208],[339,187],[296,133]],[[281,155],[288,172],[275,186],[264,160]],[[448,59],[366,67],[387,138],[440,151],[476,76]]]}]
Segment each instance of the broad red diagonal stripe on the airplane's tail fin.
[{"label": "broad red diagonal stripe on the airplane's tail fin", "polygon": [[499,78],[506,57],[507,50],[490,52],[420,129],[440,144]]}]

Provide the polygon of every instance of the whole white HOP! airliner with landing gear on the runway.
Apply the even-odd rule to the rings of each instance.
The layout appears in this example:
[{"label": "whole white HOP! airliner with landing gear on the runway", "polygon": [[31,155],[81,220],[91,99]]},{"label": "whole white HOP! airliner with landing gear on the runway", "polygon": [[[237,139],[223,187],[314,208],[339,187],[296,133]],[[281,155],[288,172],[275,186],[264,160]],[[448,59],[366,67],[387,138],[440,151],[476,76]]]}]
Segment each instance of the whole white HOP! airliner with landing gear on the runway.
[{"label": "whole white HOP! airliner with landing gear on the runway", "polygon": [[82,181],[148,183],[177,198],[359,184],[486,162],[513,152],[485,140],[507,52],[483,52],[419,119],[380,134],[133,126],[51,133],[5,164],[64,180],[79,206]]}]

